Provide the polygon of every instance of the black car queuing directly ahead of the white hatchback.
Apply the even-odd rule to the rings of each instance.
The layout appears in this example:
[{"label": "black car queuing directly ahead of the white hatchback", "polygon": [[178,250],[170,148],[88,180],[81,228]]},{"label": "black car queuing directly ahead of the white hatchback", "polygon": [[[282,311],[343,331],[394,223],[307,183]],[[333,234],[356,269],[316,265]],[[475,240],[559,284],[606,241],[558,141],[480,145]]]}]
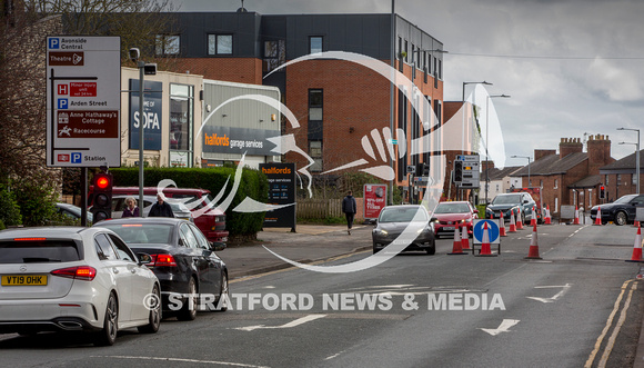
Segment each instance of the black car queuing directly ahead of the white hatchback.
[{"label": "black car queuing directly ahead of the white hatchback", "polygon": [[202,305],[228,308],[228,268],[214,253],[225,245],[208,241],[194,223],[154,217],[107,220],[95,226],[113,230],[133,251],[152,257],[148,266],[161,284],[164,317],[192,320]]}]

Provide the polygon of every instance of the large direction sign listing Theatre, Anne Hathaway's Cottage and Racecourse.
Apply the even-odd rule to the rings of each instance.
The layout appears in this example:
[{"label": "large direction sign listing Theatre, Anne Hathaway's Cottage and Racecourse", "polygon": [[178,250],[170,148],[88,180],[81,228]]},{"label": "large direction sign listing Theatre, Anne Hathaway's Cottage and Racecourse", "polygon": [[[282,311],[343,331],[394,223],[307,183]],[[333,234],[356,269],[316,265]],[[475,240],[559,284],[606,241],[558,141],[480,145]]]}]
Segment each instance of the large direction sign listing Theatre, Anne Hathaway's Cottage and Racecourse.
[{"label": "large direction sign listing Theatre, Anne Hathaway's Cottage and Racecourse", "polygon": [[121,166],[121,39],[47,38],[47,166]]}]

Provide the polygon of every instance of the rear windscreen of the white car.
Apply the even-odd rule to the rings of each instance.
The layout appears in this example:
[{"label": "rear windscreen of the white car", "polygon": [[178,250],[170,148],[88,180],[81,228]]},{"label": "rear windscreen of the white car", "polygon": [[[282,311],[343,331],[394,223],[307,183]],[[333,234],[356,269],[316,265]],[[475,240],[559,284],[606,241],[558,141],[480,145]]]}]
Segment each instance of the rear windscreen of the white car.
[{"label": "rear windscreen of the white car", "polygon": [[73,240],[0,241],[0,263],[58,263],[80,259],[79,246]]}]

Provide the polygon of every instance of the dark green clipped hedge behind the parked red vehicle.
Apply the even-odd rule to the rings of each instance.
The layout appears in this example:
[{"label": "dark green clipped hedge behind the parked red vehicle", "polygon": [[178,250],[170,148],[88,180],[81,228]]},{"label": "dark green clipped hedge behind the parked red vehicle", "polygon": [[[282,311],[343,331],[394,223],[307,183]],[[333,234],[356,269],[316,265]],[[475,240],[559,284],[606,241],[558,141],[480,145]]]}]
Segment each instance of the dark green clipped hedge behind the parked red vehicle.
[{"label": "dark green clipped hedge behind the parked red vehicle", "polygon": [[[114,177],[114,186],[138,187],[139,168],[114,168],[110,169]],[[234,185],[235,168],[145,168],[143,175],[144,187],[155,187],[163,179],[171,179],[178,188],[201,188],[210,190],[213,197],[225,186],[222,196],[223,201],[228,198]],[[262,229],[264,212],[241,213],[232,211],[244,198],[250,197],[260,202],[269,200],[269,181],[266,176],[260,170],[243,168],[239,189],[234,195],[232,203],[225,210],[227,230],[230,236],[254,235]]]}]

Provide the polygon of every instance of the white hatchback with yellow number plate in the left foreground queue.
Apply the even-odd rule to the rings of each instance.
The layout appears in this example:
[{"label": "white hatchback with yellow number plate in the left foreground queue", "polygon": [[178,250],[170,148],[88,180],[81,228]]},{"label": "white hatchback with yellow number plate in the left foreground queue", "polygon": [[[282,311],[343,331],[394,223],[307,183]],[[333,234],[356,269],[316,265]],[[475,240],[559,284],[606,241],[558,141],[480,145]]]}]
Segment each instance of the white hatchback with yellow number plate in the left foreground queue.
[{"label": "white hatchback with yellow number plate in the left foreground queue", "polygon": [[0,231],[0,334],[91,331],[112,345],[120,329],[157,332],[159,280],[139,257],[103,228]]}]

